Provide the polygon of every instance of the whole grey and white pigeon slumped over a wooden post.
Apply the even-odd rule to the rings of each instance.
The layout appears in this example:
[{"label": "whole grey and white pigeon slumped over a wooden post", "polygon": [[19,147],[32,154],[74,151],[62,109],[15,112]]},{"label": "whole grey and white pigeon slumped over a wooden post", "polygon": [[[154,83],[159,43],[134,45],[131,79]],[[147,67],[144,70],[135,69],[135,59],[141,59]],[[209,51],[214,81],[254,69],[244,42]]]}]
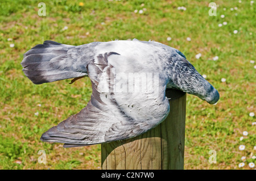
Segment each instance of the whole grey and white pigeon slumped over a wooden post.
[{"label": "whole grey and white pigeon slumped over a wooden post", "polygon": [[73,46],[44,41],[24,53],[24,74],[36,85],[89,77],[91,99],[43,133],[40,140],[64,148],[125,140],[160,124],[170,112],[167,89],[209,104],[218,91],[179,50],[156,41],[114,40]]}]

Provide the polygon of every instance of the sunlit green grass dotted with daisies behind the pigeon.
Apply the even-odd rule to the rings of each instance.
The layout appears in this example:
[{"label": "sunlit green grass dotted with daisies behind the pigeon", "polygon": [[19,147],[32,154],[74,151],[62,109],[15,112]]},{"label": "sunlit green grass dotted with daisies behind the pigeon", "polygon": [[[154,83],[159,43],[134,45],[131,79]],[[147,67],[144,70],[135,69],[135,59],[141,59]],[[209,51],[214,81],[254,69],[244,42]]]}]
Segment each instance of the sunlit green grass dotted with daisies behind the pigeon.
[{"label": "sunlit green grass dotted with daisies behind the pigeon", "polygon": [[[216,1],[217,16],[209,16],[209,2],[52,0],[44,1],[46,16],[38,16],[38,1],[1,1],[0,169],[100,169],[100,145],[64,149],[40,141],[42,133],[86,106],[89,79],[34,85],[20,62],[44,40],[80,45],[133,38],[179,49],[220,92],[216,105],[187,96],[185,169],[250,169],[249,162],[256,163],[250,158],[256,155],[255,116],[249,116],[256,113],[255,64],[250,63],[255,60],[255,3]],[[142,14],[134,12],[143,8]],[[218,27],[223,22],[228,24]],[[196,59],[198,53],[202,56]],[[249,134],[240,141],[243,131]],[[46,151],[46,164],[38,163],[39,150]],[[217,163],[208,162],[210,150],[216,150]],[[239,168],[242,156],[245,166]]]}]

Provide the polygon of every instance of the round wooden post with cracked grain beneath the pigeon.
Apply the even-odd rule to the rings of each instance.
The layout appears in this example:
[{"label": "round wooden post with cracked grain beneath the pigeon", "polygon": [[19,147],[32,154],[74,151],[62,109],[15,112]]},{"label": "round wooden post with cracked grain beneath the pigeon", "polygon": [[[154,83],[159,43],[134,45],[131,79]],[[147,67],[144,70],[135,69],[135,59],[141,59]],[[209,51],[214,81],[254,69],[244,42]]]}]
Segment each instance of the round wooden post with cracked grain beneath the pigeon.
[{"label": "round wooden post with cracked grain beneath the pigeon", "polygon": [[170,113],[154,129],[137,137],[101,144],[104,170],[184,169],[186,94],[167,90]]}]

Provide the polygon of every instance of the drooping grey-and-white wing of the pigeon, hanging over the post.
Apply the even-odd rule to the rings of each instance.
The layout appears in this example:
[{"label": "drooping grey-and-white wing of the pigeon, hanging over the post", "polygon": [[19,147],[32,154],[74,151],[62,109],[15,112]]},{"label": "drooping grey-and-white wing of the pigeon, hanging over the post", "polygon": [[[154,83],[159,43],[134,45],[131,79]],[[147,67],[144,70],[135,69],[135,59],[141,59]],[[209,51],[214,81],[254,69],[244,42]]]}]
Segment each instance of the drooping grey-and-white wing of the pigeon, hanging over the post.
[{"label": "drooping grey-and-white wing of the pigeon, hanging over the post", "polygon": [[[79,113],[44,133],[42,141],[75,147],[123,140],[156,127],[166,118],[170,105],[165,96],[165,83],[157,73],[147,73],[148,77],[139,75],[143,83],[147,82],[145,89],[142,82],[136,85],[138,77],[128,79],[125,75],[119,76],[115,71],[121,69],[115,69],[110,62],[121,59],[125,61],[126,57],[107,52],[98,54],[89,62],[87,69],[93,90],[91,100]],[[129,85],[144,90],[131,89],[127,87]]]}]

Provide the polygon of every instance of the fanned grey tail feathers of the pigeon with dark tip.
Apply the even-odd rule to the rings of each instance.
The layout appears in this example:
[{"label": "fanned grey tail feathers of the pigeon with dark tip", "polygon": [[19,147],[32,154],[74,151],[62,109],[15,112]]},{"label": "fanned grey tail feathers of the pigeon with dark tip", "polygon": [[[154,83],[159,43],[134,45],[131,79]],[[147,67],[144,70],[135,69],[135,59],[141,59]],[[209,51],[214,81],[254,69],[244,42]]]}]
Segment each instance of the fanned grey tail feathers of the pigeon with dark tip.
[{"label": "fanned grey tail feathers of the pigeon with dark tip", "polygon": [[74,68],[76,60],[72,58],[72,53],[76,53],[73,51],[75,48],[55,41],[44,41],[24,53],[22,70],[35,84],[85,76],[86,69],[81,71]]}]

